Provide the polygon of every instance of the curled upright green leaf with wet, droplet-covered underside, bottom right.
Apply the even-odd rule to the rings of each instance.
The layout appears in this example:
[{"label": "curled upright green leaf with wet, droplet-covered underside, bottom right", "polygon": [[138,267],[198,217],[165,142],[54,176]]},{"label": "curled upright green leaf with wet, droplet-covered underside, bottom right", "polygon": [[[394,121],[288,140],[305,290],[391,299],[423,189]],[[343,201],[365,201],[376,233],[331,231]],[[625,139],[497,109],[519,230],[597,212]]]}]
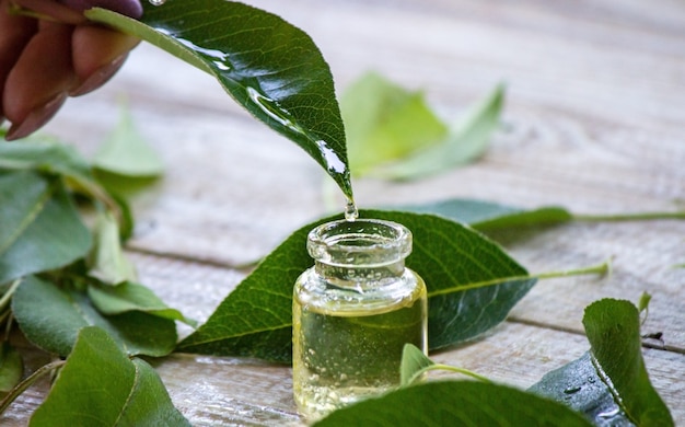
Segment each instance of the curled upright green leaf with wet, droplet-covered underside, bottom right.
[{"label": "curled upright green leaf with wet, droplet-covered underside, bottom right", "polygon": [[595,426],[673,426],[649,381],[641,353],[638,309],[604,299],[585,309],[591,351],[547,373],[531,391],[583,414]]}]

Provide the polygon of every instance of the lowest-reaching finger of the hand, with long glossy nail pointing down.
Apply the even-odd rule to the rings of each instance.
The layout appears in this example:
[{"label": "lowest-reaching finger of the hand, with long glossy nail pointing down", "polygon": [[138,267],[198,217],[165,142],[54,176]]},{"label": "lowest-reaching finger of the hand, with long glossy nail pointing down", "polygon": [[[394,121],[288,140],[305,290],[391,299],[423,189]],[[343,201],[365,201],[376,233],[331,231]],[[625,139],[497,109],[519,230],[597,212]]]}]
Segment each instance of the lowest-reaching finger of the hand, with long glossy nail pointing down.
[{"label": "lowest-reaching finger of the hand, with long glossy nail pointing down", "polygon": [[10,71],[2,105],[12,122],[7,139],[23,138],[47,123],[57,113],[73,86],[71,65],[73,26],[40,22]]}]

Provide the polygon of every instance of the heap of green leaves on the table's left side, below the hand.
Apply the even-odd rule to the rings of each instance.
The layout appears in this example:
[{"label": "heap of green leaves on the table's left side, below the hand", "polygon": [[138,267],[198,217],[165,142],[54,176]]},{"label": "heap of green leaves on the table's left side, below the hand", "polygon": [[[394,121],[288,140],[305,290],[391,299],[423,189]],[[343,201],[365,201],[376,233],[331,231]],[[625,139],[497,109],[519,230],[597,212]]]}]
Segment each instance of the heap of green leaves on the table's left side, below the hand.
[{"label": "heap of green leaves on the table's left side, below the hand", "polygon": [[[159,158],[127,111],[103,147],[97,172],[120,184],[160,172],[146,166]],[[130,155],[137,168],[116,168]],[[91,424],[95,414],[105,425],[187,425],[152,368],[128,357],[169,355],[178,339],[175,321],[191,321],[137,284],[121,246],[132,229],[129,208],[97,176],[76,150],[47,137],[0,145],[0,322],[9,331],[15,321],[36,347],[68,357],[31,425]],[[18,384],[21,355],[7,337],[1,345],[7,407],[49,370]]]}]

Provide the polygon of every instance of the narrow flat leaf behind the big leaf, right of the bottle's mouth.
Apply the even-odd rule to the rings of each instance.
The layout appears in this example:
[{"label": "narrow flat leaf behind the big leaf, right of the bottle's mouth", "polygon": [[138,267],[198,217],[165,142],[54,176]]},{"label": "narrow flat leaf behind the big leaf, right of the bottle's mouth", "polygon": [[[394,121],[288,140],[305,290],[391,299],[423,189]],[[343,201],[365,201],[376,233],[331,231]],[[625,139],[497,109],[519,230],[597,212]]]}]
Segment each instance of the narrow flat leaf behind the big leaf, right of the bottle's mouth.
[{"label": "narrow flat leaf behind the big leaf, right of the bottle's mouth", "polygon": [[393,209],[439,215],[457,222],[467,223],[485,232],[526,226],[552,226],[569,222],[573,219],[573,216],[568,210],[556,206],[521,209],[492,201],[467,198],[395,206]]}]

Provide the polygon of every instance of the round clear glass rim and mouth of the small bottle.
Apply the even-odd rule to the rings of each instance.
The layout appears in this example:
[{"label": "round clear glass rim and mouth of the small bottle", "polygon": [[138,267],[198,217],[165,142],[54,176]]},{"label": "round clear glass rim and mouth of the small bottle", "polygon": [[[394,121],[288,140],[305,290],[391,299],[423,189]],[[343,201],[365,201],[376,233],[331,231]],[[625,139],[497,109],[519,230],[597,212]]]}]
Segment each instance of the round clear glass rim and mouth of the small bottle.
[{"label": "round clear glass rim and mouth of the small bottle", "polygon": [[380,219],[338,220],[310,231],[306,249],[315,261],[329,265],[387,265],[411,253],[411,232]]}]

